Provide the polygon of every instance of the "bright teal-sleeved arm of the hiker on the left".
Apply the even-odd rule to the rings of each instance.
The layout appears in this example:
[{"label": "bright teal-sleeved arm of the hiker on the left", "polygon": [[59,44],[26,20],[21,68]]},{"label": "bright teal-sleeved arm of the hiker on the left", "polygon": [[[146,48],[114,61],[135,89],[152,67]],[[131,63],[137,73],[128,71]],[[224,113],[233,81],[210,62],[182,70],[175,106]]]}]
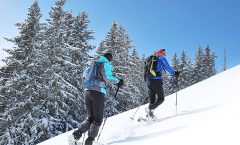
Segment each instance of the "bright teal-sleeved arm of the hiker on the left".
[{"label": "bright teal-sleeved arm of the hiker on the left", "polygon": [[109,63],[103,63],[103,67],[101,70],[103,80],[110,84],[117,84],[119,79],[112,75],[112,65]]}]

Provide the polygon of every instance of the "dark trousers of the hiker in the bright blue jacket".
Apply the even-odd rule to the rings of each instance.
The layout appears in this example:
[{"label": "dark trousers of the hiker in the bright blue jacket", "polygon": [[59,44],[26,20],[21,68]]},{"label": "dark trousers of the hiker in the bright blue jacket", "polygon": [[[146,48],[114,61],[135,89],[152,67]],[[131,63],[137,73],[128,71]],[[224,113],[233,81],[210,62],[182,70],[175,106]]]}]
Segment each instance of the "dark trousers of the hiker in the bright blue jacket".
[{"label": "dark trousers of the hiker in the bright blue jacket", "polygon": [[[164,102],[164,91],[162,80],[149,80],[149,109],[154,110]],[[157,98],[156,98],[157,96]]]}]

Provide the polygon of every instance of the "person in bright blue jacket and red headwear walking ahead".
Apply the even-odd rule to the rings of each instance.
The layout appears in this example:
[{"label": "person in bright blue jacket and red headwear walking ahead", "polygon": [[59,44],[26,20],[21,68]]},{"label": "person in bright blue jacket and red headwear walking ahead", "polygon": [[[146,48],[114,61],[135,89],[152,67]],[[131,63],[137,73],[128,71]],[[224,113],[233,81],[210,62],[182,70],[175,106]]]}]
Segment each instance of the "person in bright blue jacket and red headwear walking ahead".
[{"label": "person in bright blue jacket and red headwear walking ahead", "polygon": [[[159,49],[155,52],[156,66],[153,68],[155,75],[148,75],[148,89],[149,89],[149,99],[150,103],[148,108],[146,108],[147,117],[154,117],[153,110],[164,102],[164,90],[162,82],[162,71],[167,70],[170,75],[179,75],[178,71],[175,71],[165,58],[165,49]],[[157,99],[156,99],[157,95]]]}]

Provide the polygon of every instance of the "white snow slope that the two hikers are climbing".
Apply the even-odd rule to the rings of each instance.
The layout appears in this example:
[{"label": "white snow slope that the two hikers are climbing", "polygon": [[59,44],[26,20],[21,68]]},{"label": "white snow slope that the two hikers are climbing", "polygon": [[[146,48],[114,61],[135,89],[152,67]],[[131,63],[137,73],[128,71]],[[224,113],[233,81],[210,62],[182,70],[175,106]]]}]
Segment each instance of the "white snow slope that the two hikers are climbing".
[{"label": "white snow slope that the two hikers are climbing", "polygon": [[[240,140],[240,65],[165,98],[154,114],[155,122],[137,122],[145,116],[139,108],[107,119],[99,142],[106,145],[239,145]],[[39,145],[67,145],[61,134]],[[87,136],[87,135],[86,135]],[[80,141],[82,138],[80,139]]]}]

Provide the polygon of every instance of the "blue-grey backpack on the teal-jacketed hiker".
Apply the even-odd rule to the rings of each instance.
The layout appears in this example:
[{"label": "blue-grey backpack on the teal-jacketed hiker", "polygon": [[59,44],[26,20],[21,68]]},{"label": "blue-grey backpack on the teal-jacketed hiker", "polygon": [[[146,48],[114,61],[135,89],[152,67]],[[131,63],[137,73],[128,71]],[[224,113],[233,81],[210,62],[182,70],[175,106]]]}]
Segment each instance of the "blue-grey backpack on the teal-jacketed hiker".
[{"label": "blue-grey backpack on the teal-jacketed hiker", "polygon": [[83,72],[83,87],[89,88],[98,86],[105,88],[105,82],[103,81],[102,74],[99,70],[102,62],[93,61],[89,67]]}]

